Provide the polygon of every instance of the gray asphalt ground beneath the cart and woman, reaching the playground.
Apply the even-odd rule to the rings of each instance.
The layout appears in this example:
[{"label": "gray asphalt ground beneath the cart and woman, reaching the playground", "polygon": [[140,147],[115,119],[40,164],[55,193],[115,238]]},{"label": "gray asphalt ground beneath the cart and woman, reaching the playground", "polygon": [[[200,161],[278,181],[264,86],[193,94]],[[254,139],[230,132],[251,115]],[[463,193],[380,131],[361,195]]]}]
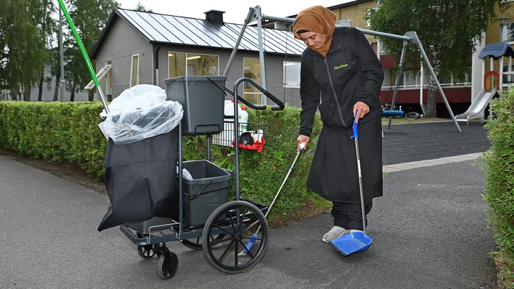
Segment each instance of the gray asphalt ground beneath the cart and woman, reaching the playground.
[{"label": "gray asphalt ground beneath the cart and woman, reaching the playground", "polygon": [[[237,275],[167,243],[179,263],[169,281],[117,228],[96,230],[106,195],[0,155],[0,288],[493,288],[494,232],[477,158],[489,141],[480,124],[461,128],[384,129],[384,165],[424,166],[384,176],[384,196],[368,216],[369,250],[343,257],[322,243],[331,217],[320,214],[270,232],[264,259]],[[475,157],[455,157],[462,155]]]}]

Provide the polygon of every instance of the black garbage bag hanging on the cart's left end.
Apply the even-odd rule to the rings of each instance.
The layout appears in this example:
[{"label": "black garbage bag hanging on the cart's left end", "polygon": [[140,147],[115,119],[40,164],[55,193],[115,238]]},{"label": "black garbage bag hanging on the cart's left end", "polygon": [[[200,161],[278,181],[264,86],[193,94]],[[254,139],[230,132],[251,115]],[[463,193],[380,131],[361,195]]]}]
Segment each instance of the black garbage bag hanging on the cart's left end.
[{"label": "black garbage bag hanging on the cart's left end", "polygon": [[152,217],[176,218],[178,128],[135,143],[107,143],[103,177],[110,206],[98,230]]}]

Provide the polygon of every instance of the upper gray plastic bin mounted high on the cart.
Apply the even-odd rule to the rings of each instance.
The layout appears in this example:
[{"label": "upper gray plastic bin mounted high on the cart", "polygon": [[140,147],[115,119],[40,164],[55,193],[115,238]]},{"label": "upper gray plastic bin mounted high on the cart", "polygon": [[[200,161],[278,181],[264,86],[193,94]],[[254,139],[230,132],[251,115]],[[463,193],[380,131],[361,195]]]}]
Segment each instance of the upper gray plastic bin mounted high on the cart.
[{"label": "upper gray plastic bin mounted high on the cart", "polygon": [[223,130],[227,77],[175,77],[166,79],[167,100],[184,108],[183,134],[217,134]]}]

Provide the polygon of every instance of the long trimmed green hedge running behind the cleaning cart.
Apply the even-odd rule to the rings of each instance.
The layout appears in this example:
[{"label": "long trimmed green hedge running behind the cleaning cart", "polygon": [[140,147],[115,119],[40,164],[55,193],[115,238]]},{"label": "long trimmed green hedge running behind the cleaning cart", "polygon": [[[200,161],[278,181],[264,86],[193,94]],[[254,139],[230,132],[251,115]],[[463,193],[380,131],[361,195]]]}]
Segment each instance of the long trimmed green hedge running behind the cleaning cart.
[{"label": "long trimmed green hedge running behind the cleaning cart", "polygon": [[[101,179],[107,141],[98,124],[99,102],[34,103],[0,102],[0,148],[34,159],[76,164],[90,177]],[[264,123],[263,152],[240,150],[241,195],[269,204],[294,157],[300,119],[298,108],[282,111],[249,110],[251,123]],[[287,215],[317,199],[305,189],[313,148],[321,122],[316,117],[311,148],[302,153],[295,170],[282,188],[274,212]],[[184,159],[207,159],[205,136],[183,137]],[[234,148],[211,146],[212,161],[234,170]]]}]

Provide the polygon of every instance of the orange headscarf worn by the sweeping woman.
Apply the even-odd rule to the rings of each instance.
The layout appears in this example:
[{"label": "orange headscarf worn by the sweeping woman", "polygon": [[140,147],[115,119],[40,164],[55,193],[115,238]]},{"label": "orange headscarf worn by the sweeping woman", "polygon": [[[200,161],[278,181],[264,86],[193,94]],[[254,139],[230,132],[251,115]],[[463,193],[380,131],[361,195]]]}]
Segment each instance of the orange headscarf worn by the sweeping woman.
[{"label": "orange headscarf worn by the sweeping woman", "polygon": [[300,34],[298,34],[298,31],[300,30],[325,34],[327,36],[325,44],[318,49],[313,49],[319,54],[325,56],[329,51],[335,27],[336,14],[323,6],[312,6],[298,13],[296,20],[293,23],[294,37],[296,39],[300,39]]}]

